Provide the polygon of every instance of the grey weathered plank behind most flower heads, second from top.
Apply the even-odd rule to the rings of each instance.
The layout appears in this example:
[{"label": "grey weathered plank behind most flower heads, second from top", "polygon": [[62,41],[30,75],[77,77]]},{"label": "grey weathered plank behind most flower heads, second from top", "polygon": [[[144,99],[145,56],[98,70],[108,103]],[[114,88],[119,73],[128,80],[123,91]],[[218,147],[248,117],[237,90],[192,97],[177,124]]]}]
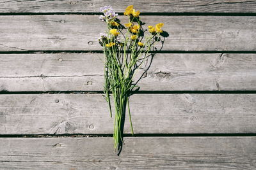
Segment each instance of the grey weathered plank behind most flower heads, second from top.
[{"label": "grey weathered plank behind most flower heads, second from top", "polygon": [[[170,36],[163,50],[256,50],[253,16],[141,16],[141,20],[148,25],[164,22]],[[97,39],[104,24],[97,15],[0,16],[0,51],[101,50]]]}]

